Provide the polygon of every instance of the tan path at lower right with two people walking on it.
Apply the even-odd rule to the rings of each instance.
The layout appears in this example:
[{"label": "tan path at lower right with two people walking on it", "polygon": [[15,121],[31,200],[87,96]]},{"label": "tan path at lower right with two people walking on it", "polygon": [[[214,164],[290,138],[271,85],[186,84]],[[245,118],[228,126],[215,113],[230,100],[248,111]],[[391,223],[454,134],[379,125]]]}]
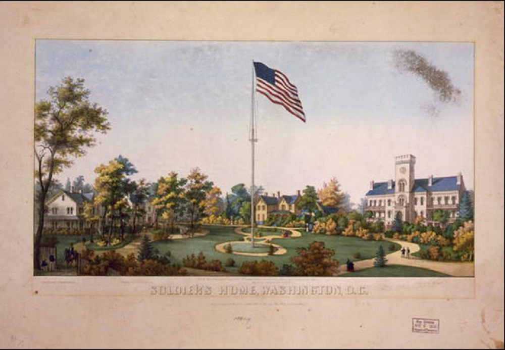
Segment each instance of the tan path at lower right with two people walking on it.
[{"label": "tan path at lower right with two people walking on it", "polygon": [[[442,262],[442,261],[432,261],[419,259],[413,257],[412,254],[419,252],[421,249],[418,244],[412,242],[406,242],[398,239],[385,238],[385,241],[398,243],[399,245],[407,247],[410,249],[411,257],[410,259],[402,258],[401,252],[396,251],[394,253],[386,255],[387,263],[391,265],[407,265],[413,267],[419,267],[423,269],[438,271],[445,273],[450,276],[457,277],[473,277],[474,276],[474,263],[473,262]],[[355,271],[367,269],[374,266],[374,259],[367,259],[362,261],[357,261],[354,263]],[[341,264],[338,268],[339,274],[348,273],[346,270],[346,265]]]}]

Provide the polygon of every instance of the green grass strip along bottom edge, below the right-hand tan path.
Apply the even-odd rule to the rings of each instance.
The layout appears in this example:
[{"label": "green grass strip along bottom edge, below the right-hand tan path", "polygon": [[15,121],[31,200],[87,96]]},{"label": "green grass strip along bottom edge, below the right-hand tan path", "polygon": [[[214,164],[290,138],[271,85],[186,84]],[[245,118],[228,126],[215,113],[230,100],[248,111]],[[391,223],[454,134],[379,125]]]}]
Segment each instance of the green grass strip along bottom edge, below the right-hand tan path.
[{"label": "green grass strip along bottom edge, below the right-hand tan path", "polygon": [[349,272],[341,277],[449,277],[441,272],[405,265],[386,265],[371,267],[356,272]]}]

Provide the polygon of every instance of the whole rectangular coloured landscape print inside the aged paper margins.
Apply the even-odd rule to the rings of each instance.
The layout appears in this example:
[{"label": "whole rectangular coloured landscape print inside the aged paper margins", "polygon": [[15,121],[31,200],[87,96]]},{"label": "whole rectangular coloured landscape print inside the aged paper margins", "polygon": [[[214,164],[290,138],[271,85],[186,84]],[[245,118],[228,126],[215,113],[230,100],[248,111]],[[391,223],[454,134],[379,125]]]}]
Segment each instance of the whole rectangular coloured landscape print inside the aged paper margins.
[{"label": "whole rectangular coloured landscape print inside the aged paper margins", "polygon": [[471,277],[473,44],[37,40],[36,275]]}]

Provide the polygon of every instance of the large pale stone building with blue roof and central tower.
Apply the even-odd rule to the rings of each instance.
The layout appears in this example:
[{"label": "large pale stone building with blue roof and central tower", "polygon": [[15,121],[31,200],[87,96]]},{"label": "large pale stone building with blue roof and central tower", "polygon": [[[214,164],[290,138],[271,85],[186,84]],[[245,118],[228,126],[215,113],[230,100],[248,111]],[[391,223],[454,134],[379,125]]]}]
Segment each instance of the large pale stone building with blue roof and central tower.
[{"label": "large pale stone building with blue roof and central tower", "polygon": [[449,222],[458,216],[458,205],[465,191],[463,176],[416,179],[416,157],[402,155],[394,160],[394,179],[370,182],[366,193],[365,212],[371,211],[375,220],[390,226],[396,215],[402,221],[413,222],[418,216],[427,223],[433,222],[433,212],[448,213]]}]

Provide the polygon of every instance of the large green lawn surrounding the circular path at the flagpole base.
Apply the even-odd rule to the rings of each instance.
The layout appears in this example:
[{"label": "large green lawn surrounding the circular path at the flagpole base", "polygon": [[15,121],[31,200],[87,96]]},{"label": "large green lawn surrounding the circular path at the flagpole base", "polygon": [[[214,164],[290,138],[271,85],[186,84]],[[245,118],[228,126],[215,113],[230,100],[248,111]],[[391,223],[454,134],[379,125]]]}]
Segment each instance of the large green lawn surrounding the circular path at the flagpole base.
[{"label": "large green lawn surrounding the circular path at the flagpole base", "polygon": [[[279,238],[274,239],[273,243],[279,244],[287,249],[287,253],[281,256],[267,256],[262,258],[238,256],[234,254],[219,253],[214,249],[214,246],[219,243],[227,241],[242,240],[243,236],[233,232],[234,227],[226,226],[205,226],[209,230],[209,234],[203,237],[189,238],[189,239],[173,239],[161,240],[153,242],[153,245],[159,250],[161,254],[170,251],[172,262],[182,264],[182,259],[188,254],[198,254],[203,252],[207,260],[221,260],[226,261],[228,258],[233,258],[236,265],[240,266],[244,261],[250,260],[268,260],[273,261],[278,268],[283,264],[290,264],[290,259],[297,256],[296,248],[308,247],[313,241],[322,241],[326,247],[334,249],[335,255],[333,258],[337,259],[340,264],[344,264],[347,258],[353,261],[370,259],[375,257],[377,247],[382,244],[386,253],[391,253],[388,246],[391,244],[387,241],[367,241],[356,237],[343,237],[343,236],[327,236],[312,233],[302,233],[299,238]],[[398,244],[395,244],[395,250],[400,249]],[[360,259],[352,258],[355,253],[361,253]]]}]

